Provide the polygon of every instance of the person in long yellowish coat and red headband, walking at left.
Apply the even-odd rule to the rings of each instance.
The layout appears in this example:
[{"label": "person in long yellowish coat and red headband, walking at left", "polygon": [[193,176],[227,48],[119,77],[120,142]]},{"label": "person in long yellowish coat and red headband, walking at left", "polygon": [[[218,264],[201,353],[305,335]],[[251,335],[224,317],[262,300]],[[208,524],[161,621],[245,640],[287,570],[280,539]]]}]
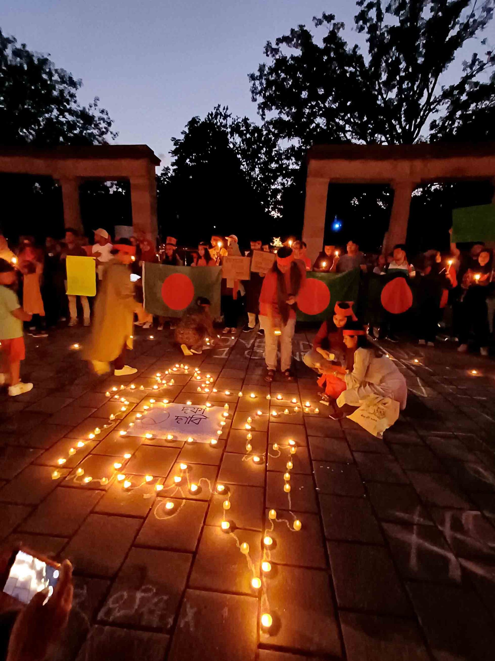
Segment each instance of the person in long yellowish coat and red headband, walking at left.
[{"label": "person in long yellowish coat and red headband, walking at left", "polygon": [[93,309],[93,325],[85,360],[90,360],[94,371],[104,374],[114,363],[114,374],[134,374],[137,369],[125,364],[125,350],[132,348],[134,313],[143,314],[143,305],[134,298],[129,264],[135,257],[136,248],[129,239],[114,244],[114,255],[106,264],[102,285],[96,295]]}]

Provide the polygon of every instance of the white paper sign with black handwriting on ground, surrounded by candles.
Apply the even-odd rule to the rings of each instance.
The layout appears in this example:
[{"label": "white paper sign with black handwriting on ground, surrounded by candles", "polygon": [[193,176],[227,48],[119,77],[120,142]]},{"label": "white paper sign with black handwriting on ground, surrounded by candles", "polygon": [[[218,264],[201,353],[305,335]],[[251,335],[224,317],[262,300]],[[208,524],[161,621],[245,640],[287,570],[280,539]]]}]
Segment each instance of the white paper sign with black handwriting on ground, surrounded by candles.
[{"label": "white paper sign with black handwriting on ground, surrounded by candles", "polygon": [[133,434],[137,430],[139,436],[153,434],[154,438],[167,438],[168,434],[173,434],[175,441],[193,438],[195,442],[209,443],[212,438],[218,439],[216,432],[221,429],[220,422],[225,420],[225,410],[205,405],[156,403],[142,418],[135,420]]}]

